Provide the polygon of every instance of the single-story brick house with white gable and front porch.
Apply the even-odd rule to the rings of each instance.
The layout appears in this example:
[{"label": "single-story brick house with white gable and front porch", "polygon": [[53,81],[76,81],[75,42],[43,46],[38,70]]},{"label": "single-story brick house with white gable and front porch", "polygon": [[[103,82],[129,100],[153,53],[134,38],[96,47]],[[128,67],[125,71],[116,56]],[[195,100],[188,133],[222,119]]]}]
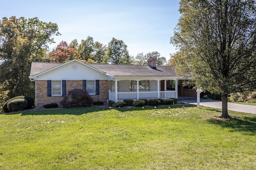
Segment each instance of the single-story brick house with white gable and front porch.
[{"label": "single-story brick house with white gable and front porch", "polygon": [[[178,98],[174,66],[32,62],[30,80],[36,83],[36,106],[57,103],[74,88],[88,91],[94,101]],[[175,85],[175,87],[174,87]],[[174,88],[173,88],[174,87]]]}]

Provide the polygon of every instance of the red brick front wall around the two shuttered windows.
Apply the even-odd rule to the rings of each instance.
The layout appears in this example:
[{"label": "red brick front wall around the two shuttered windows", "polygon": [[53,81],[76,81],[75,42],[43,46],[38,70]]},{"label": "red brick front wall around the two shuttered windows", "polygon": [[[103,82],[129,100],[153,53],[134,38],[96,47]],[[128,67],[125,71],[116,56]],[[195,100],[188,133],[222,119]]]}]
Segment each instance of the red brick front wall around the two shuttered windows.
[{"label": "red brick front wall around the two shuttered windows", "polygon": [[[74,88],[82,88],[82,80],[66,80],[66,92]],[[108,80],[100,80],[100,95],[91,95],[94,101],[106,102],[108,98]],[[44,106],[45,104],[60,104],[62,96],[47,97],[47,80],[36,81],[36,106]]]}]

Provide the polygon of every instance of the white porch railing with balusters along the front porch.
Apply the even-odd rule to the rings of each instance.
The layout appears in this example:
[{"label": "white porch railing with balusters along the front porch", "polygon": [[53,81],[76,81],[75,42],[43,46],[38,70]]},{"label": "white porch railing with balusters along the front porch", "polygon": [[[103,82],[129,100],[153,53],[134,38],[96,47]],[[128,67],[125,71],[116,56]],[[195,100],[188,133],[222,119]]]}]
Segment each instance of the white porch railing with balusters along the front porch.
[{"label": "white porch railing with balusters along the front porch", "polygon": [[[177,98],[176,91],[161,91],[159,92],[159,98],[161,99],[168,99],[168,98]],[[138,98],[137,98],[137,92],[118,92],[117,93],[117,100],[116,100],[116,94],[115,92],[109,91],[109,100],[111,101],[123,101],[125,99],[132,99],[132,100],[138,100],[138,99],[157,99],[158,98],[158,92],[139,92]]]}]

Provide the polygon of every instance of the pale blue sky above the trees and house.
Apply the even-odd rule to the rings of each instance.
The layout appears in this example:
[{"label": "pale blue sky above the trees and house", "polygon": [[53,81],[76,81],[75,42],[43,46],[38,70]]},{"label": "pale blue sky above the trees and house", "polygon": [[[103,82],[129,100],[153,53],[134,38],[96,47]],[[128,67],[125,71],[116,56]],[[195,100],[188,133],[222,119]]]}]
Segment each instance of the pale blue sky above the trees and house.
[{"label": "pale blue sky above the trees and house", "polygon": [[55,48],[60,41],[78,43],[88,36],[104,45],[112,37],[124,41],[131,56],[158,51],[170,59],[176,47],[170,37],[178,22],[178,0],[1,0],[3,17],[38,17],[57,23],[62,34],[54,37]]}]

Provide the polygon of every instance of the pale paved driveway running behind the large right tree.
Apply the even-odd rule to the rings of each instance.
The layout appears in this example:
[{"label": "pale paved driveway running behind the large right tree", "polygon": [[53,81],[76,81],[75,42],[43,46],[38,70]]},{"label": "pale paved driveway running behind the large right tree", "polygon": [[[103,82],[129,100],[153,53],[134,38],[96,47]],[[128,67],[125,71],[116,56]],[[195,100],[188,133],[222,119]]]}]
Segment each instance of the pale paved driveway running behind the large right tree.
[{"label": "pale paved driveway running behind the large right tree", "polygon": [[[179,99],[179,102],[185,102],[185,103],[195,104],[195,105],[197,104],[196,98],[179,96],[178,99]],[[207,107],[221,109],[222,102],[219,100],[200,99],[200,106],[207,106]],[[230,103],[230,102],[228,102],[228,110],[256,114],[256,106],[236,104],[236,103]]]}]

